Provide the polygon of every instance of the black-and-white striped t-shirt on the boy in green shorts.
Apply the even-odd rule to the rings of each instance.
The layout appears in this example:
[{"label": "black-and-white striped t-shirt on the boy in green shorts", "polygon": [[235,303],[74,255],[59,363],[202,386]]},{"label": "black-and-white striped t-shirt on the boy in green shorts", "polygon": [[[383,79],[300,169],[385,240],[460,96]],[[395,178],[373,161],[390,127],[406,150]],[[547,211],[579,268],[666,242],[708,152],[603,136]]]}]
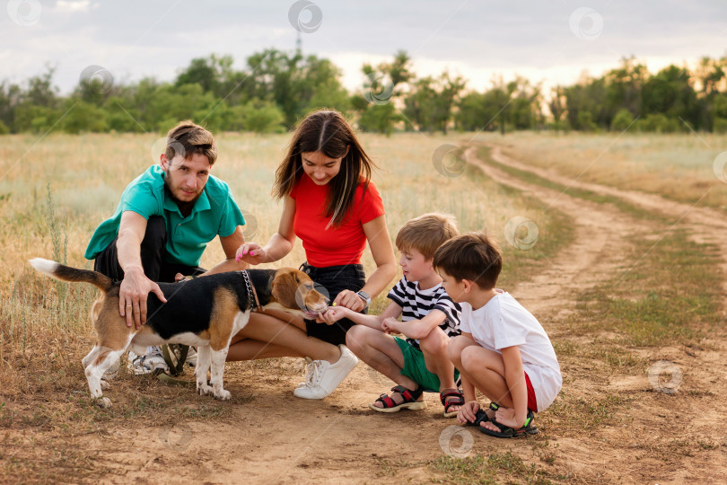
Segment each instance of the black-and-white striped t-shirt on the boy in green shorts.
[{"label": "black-and-white striped t-shirt on the boy in green shorts", "polygon": [[[402,308],[401,321],[421,320],[432,310],[439,310],[447,315],[447,318],[439,327],[449,337],[456,337],[461,334],[460,318],[462,308],[460,304],[451,301],[450,295],[444,291],[442,284],[429,289],[419,289],[416,282],[408,281],[407,277],[399,280],[388,295],[389,299]],[[419,340],[407,339],[407,342],[419,348]]]}]

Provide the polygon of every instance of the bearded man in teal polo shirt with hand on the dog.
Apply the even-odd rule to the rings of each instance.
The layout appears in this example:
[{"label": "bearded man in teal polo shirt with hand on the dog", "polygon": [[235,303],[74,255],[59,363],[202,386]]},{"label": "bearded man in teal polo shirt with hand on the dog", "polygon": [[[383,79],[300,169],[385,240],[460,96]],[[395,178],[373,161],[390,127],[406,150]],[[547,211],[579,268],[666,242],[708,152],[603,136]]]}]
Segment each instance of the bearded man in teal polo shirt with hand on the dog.
[{"label": "bearded man in teal polo shirt with hand on the dog", "polygon": [[85,258],[94,269],[121,281],[118,312],[127,326],[146,322],[146,299],[166,299],[155,281],[204,272],[199,260],[207,242],[220,236],[227,259],[205,274],[245,269],[235,251],[245,242],[245,219],[226,183],[210,175],[215,138],[191,121],[167,134],[159,165],[124,190],[114,215],[93,233]]}]

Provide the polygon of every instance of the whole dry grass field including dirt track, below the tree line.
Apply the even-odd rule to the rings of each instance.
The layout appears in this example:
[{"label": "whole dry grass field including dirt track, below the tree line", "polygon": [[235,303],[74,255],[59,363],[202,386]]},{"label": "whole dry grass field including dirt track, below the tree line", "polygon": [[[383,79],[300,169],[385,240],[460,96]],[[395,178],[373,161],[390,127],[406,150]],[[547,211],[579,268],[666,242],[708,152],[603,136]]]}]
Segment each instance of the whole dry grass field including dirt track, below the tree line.
[{"label": "whole dry grass field including dirt track, below the tree line", "polygon": [[[363,137],[392,239],[434,210],[462,231],[486,228],[504,249],[499,286],[554,342],[563,391],[538,436],[509,443],[450,428],[433,395],[419,414],[372,415],[365,405],[390,383],[363,364],[325,401],[296,400],[302,363],[292,358],[228,364],[226,402],[122,366],[106,394],[114,407],[97,409],[80,365],[96,290],[43,278],[27,260],[90,268],[93,229],[153,163],[159,135],[1,138],[0,482],[727,480],[727,186],[709,178],[723,138],[700,148],[682,136]],[[269,194],[287,141],[219,137],[213,173],[249,216],[251,240],[276,230]],[[442,145],[469,148],[467,166],[442,159]],[[515,217],[531,223],[505,234]],[[202,265],[222,255],[212,242]],[[276,266],[303,258],[298,243]],[[374,311],[385,304],[380,295]]]}]

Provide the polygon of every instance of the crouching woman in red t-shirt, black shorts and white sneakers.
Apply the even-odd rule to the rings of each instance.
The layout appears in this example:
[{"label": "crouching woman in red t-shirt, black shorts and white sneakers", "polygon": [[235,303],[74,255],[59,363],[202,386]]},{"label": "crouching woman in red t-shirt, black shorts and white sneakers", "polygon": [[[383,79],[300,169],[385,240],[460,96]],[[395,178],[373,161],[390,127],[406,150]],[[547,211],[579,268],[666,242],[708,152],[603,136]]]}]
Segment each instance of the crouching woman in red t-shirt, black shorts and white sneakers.
[{"label": "crouching woman in red t-shirt, black shorts and white sneakers", "polygon": [[[253,265],[279,260],[297,236],[307,259],[302,270],[317,287],[325,287],[335,304],[365,312],[396,274],[383,202],[371,181],[374,166],[339,112],[308,115],[276,171],[273,193],[285,201],[277,233],[265,247],[242,244],[238,258]],[[376,262],[368,281],[361,265],[366,242]],[[282,311],[251,313],[232,339],[227,360],[309,357],[305,383],[294,394],[323,399],[358,362],[344,345],[353,325],[345,319],[328,326]]]}]

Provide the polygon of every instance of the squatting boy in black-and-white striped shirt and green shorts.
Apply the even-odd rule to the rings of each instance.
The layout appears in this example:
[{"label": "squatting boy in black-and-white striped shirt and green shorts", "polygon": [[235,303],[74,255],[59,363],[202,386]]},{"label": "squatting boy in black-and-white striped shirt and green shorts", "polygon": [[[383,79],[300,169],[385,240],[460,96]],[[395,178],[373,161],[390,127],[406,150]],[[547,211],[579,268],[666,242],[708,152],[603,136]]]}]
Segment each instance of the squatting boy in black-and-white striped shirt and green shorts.
[{"label": "squatting boy in black-and-white striped shirt and green shorts", "polygon": [[461,308],[444,291],[432,265],[434,252],[457,234],[453,216],[432,213],[410,220],[397,234],[404,276],[391,288],[386,310],[377,316],[335,306],[322,315],[329,325],[341,318],[357,323],[346,333],[348,348],[399,384],[391,388],[391,395],[381,394],[369,404],[372,410],[424,410],[425,391],[440,393],[447,418],[457,416],[464,404],[455,384],[459,373],[447,357],[450,339],[461,333]]}]

